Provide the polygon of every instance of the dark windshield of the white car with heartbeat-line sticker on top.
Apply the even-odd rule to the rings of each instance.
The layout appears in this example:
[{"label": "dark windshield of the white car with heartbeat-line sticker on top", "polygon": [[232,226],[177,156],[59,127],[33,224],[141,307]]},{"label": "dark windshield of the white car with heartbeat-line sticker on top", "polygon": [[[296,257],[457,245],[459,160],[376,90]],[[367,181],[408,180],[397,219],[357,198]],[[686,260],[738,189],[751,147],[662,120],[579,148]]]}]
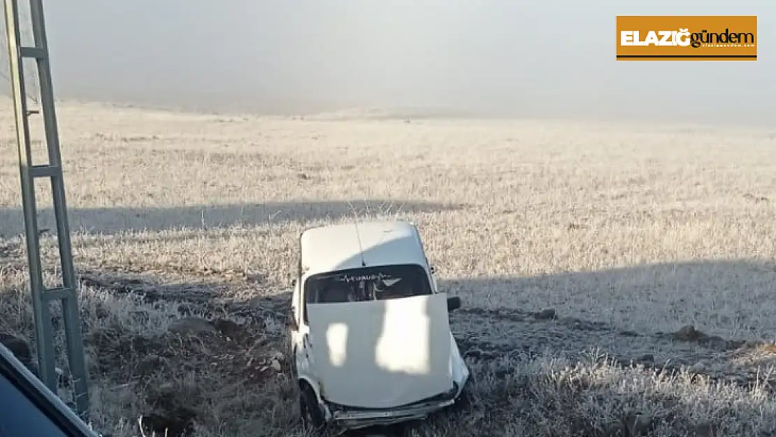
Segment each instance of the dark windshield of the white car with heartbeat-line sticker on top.
[{"label": "dark windshield of the white car with heartbeat-line sticker on top", "polygon": [[431,294],[421,265],[383,265],[310,276],[304,283],[307,303],[388,300]]}]

